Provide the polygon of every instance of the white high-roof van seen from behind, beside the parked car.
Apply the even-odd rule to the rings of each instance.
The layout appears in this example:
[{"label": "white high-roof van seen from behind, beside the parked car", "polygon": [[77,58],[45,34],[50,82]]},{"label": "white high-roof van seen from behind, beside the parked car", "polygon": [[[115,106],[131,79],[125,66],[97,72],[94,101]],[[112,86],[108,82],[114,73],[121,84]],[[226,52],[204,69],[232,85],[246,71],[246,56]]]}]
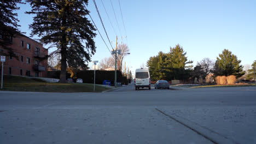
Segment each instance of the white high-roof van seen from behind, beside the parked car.
[{"label": "white high-roof van seen from behind, beside the parked car", "polygon": [[148,87],[150,90],[150,75],[148,69],[136,69],[135,70],[135,90],[138,90],[140,87]]}]

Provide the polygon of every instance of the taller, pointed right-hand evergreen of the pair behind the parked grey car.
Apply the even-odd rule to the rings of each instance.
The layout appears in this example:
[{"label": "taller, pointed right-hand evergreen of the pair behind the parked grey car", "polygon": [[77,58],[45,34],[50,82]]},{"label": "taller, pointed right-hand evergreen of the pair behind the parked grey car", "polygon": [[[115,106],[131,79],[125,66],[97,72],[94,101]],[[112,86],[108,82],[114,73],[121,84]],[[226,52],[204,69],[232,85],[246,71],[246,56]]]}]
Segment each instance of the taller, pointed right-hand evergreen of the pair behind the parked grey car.
[{"label": "taller, pointed right-hand evergreen of the pair behind the parked grey car", "polygon": [[173,48],[170,47],[170,52],[167,53],[167,59],[163,67],[164,71],[166,71],[167,80],[188,79],[189,68],[192,66],[187,66],[187,64],[193,63],[193,61],[188,61],[186,54],[187,52],[179,44]]}]

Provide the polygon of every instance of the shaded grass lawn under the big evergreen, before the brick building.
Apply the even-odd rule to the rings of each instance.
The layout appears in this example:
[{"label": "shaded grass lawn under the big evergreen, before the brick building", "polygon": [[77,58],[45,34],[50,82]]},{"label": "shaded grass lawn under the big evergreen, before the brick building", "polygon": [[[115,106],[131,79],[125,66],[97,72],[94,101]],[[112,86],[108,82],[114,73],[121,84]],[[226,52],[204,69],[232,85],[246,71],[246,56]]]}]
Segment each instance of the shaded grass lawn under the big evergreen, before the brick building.
[{"label": "shaded grass lawn under the big evergreen, before the brick building", "polygon": [[[1,79],[1,78],[0,78]],[[108,87],[95,85],[96,92],[107,91]],[[49,83],[40,79],[27,79],[20,76],[3,76],[3,89],[0,91],[22,92],[94,92],[94,84],[89,83]]]}]

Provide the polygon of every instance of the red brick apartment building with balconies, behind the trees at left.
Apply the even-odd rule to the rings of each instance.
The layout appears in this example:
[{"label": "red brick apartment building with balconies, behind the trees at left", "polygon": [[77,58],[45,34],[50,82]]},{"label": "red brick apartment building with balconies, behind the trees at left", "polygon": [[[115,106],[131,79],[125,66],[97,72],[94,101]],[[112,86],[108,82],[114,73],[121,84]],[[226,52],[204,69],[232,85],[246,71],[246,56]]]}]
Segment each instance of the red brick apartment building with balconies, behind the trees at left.
[{"label": "red brick apartment building with balconies, behind the trees at left", "polygon": [[[4,74],[46,77],[48,60],[43,57],[48,55],[48,50],[44,49],[43,44],[22,34],[15,35],[10,43],[10,47],[18,59],[13,56],[5,56]],[[7,53],[1,46],[0,51]]]}]

